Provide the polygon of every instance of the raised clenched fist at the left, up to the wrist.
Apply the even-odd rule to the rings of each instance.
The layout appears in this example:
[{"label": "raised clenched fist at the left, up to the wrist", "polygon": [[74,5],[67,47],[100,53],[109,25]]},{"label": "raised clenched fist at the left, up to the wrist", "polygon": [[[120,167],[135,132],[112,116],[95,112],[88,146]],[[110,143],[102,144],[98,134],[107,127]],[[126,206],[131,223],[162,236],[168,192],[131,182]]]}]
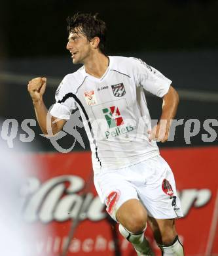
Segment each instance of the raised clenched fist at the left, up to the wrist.
[{"label": "raised clenched fist at the left, up to the wrist", "polygon": [[28,83],[28,91],[33,99],[33,102],[42,100],[43,94],[45,93],[46,77],[37,77],[31,79]]}]

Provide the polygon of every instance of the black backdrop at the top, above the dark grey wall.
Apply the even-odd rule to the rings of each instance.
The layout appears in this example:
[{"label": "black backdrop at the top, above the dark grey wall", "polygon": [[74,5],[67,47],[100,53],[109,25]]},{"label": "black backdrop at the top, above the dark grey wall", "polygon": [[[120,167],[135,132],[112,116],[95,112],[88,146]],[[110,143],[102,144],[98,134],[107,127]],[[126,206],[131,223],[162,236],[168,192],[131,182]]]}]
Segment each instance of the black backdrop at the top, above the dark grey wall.
[{"label": "black backdrop at the top, above the dark grey wall", "polygon": [[76,11],[105,20],[109,53],[217,49],[218,1],[8,0],[1,3],[1,55],[66,54],[65,18]]}]

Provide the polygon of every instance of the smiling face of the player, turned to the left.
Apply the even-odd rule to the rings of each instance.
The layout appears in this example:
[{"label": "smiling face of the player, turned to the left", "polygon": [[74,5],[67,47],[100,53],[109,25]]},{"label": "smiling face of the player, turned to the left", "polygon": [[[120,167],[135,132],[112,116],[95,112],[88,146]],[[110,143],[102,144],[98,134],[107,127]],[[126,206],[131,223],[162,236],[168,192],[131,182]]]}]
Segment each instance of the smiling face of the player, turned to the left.
[{"label": "smiling face of the player, turned to the left", "polygon": [[84,64],[91,53],[90,41],[77,28],[69,33],[67,50],[71,53],[73,64]]}]

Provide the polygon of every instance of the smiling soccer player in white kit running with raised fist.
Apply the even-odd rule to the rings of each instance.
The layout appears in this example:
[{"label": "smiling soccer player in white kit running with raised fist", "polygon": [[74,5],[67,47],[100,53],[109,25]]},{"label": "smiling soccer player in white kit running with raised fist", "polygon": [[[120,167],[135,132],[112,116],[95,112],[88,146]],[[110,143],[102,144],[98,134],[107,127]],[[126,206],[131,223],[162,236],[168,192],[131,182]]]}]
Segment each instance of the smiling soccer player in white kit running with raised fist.
[{"label": "smiling soccer player in white kit running with raised fist", "polygon": [[[183,213],[172,170],[155,141],[168,139],[177,110],[179,96],[172,81],[142,60],[107,56],[105,22],[96,15],[77,13],[67,21],[67,50],[73,64],[83,66],[64,77],[50,112],[43,103],[46,78],[29,81],[39,125],[45,134],[58,133],[79,108],[92,150],[96,190],[122,236],[137,255],[154,255],[144,236],[149,222],[163,255],[182,256],[175,219]],[[153,129],[143,89],[163,100]]]}]

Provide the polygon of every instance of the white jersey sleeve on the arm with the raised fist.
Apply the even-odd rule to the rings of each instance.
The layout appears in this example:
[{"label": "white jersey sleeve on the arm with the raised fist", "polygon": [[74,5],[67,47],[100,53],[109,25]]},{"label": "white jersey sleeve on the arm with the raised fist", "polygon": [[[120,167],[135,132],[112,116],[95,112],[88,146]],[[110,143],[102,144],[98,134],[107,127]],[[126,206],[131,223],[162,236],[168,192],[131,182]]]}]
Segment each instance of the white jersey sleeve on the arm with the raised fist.
[{"label": "white jersey sleeve on the arm with the raised fist", "polygon": [[60,119],[69,119],[71,112],[77,108],[73,98],[71,83],[67,76],[64,77],[55,93],[56,103],[52,106],[50,114]]}]

